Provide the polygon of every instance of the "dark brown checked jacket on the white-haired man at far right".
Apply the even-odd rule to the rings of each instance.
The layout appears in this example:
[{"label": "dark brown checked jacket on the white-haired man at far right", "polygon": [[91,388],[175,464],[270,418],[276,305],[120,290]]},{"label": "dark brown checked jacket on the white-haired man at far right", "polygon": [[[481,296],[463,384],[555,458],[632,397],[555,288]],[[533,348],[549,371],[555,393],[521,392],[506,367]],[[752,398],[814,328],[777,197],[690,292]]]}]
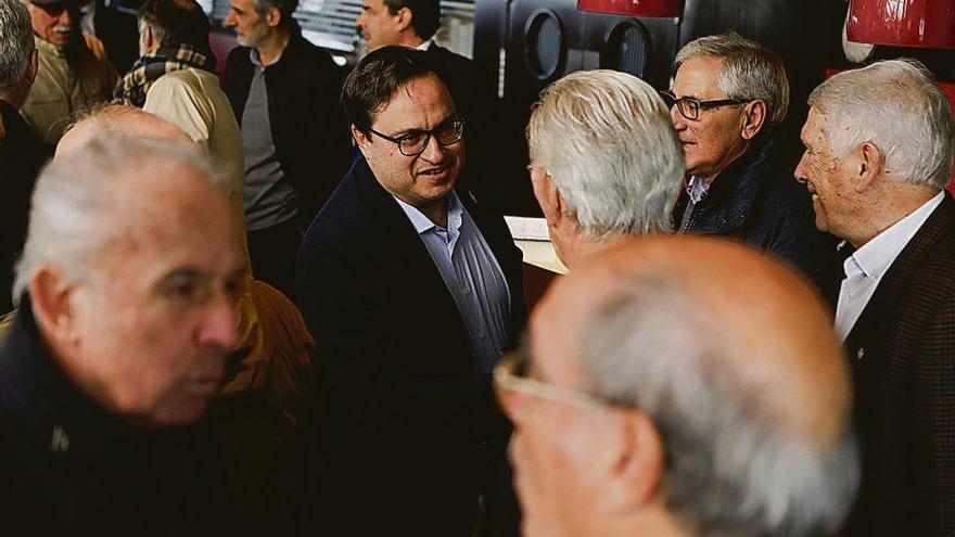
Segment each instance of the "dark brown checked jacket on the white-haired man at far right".
[{"label": "dark brown checked jacket on the white-haired man at far right", "polygon": [[846,536],[955,535],[955,202],[902,251],[845,340],[863,482]]}]

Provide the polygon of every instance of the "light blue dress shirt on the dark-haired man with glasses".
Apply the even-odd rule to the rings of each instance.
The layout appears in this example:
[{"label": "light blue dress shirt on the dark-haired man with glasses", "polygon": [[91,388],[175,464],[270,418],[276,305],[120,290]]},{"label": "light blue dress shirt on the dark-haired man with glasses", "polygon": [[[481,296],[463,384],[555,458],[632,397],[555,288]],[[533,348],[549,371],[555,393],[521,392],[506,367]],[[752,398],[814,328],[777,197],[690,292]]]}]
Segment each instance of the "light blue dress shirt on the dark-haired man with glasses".
[{"label": "light blue dress shirt on the dark-haired man with glasses", "polygon": [[458,306],[479,370],[489,373],[504,351],[510,327],[510,290],[500,265],[455,192],[447,200],[447,229],[395,200],[418,231]]}]

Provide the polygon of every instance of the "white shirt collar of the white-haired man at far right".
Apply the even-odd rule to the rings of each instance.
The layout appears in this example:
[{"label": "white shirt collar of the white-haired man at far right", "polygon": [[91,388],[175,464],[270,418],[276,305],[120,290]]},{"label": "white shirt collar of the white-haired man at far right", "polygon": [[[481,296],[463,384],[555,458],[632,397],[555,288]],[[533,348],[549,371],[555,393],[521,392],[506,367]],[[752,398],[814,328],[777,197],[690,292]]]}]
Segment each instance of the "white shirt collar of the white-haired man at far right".
[{"label": "white shirt collar of the white-haired man at far right", "polygon": [[874,280],[880,279],[944,197],[945,191],[939,192],[921,207],[913,210],[908,216],[876,235],[875,239],[863,244],[852,254],[852,257],[845,260],[845,269],[848,270],[850,264],[854,261],[866,277]]}]

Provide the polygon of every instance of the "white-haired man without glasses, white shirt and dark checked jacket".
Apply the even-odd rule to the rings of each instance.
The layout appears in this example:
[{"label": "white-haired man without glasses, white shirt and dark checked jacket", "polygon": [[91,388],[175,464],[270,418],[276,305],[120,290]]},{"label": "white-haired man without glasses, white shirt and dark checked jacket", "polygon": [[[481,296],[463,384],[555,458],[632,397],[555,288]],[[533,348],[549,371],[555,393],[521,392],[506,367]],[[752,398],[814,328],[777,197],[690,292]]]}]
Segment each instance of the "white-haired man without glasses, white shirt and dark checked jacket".
[{"label": "white-haired man without glasses, white shirt and dark checked jacket", "polygon": [[848,536],[955,534],[955,158],[951,105],[918,62],[816,88],[795,177],[843,239],[836,332],[855,379],[863,482]]}]

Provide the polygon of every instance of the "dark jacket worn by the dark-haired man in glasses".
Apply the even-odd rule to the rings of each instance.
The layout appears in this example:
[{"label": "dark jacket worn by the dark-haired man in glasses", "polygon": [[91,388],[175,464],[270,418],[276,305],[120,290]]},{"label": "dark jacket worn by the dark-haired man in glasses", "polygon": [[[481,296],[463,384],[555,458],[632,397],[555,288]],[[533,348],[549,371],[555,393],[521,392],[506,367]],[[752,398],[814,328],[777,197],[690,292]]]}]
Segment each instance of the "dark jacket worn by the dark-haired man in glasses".
[{"label": "dark jacket worn by the dark-haired man in glasses", "polygon": [[[520,252],[500,216],[459,196],[505,273],[517,335]],[[441,273],[364,158],[308,229],[297,270],[322,393],[310,516],[330,535],[470,535],[509,425]]]}]

